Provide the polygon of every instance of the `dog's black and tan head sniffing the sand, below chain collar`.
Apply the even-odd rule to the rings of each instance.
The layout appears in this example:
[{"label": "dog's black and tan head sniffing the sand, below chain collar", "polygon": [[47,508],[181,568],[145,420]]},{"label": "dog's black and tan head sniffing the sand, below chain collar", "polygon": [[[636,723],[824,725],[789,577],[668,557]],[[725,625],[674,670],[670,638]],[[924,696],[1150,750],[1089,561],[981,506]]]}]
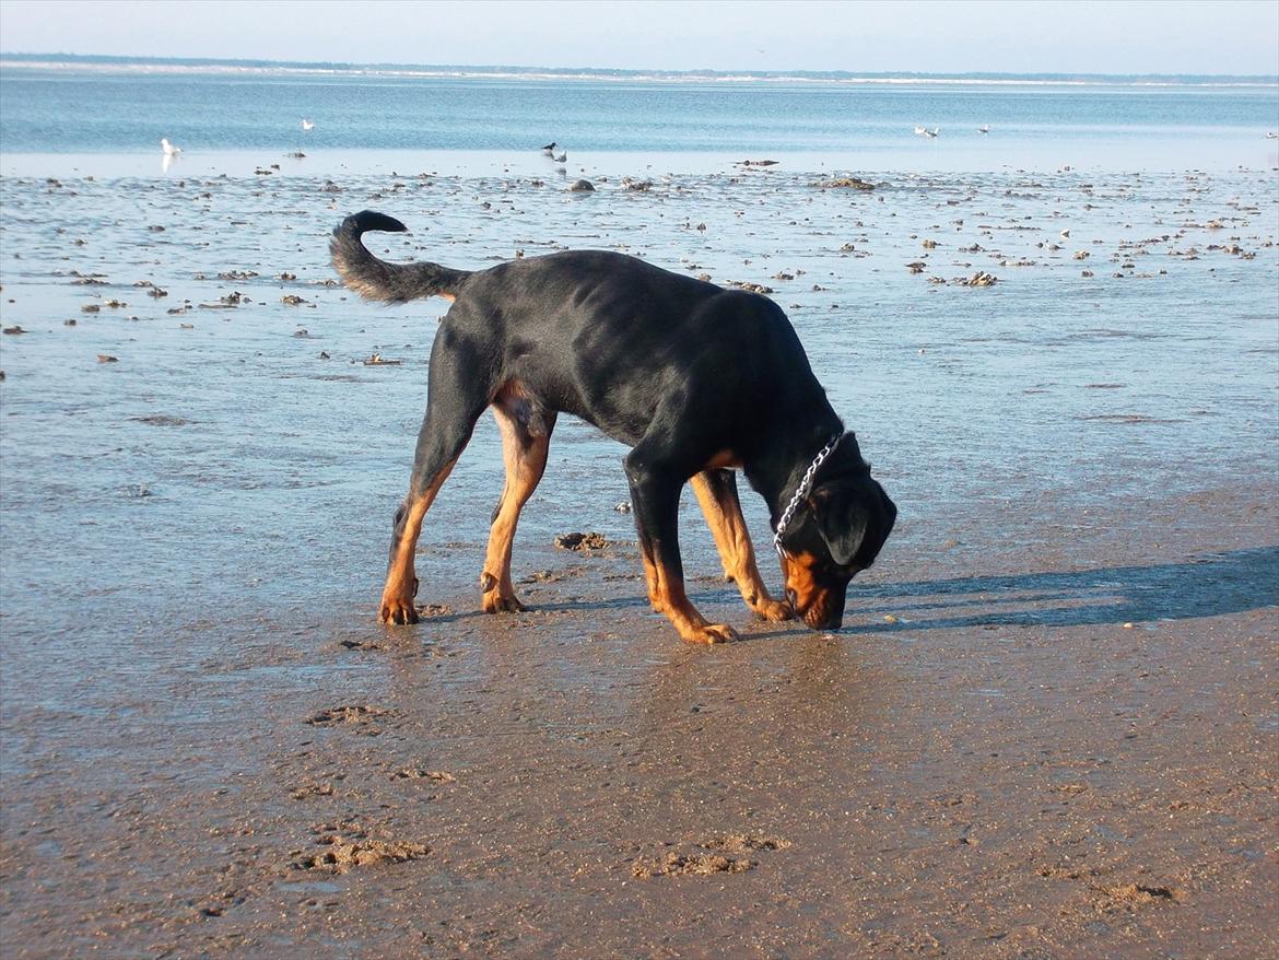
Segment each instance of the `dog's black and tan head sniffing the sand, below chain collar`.
[{"label": "dog's black and tan head sniffing the sand, below chain collar", "polygon": [[838,630],[848,584],[875,562],[897,506],[859,454],[819,477],[787,529],[781,572],[796,616],[812,630]]}]

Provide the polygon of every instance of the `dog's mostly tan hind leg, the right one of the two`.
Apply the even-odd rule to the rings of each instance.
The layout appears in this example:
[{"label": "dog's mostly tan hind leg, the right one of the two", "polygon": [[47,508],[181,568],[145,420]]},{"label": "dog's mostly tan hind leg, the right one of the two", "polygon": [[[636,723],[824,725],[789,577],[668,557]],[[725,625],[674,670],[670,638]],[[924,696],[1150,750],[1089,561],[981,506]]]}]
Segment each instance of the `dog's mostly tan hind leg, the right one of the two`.
[{"label": "dog's mostly tan hind leg, the right one of the two", "polygon": [[555,426],[555,413],[550,411],[540,413],[535,417],[535,422],[530,422],[527,416],[522,416],[527,413],[528,407],[527,399],[515,397],[500,397],[492,406],[498,429],[501,431],[506,485],[503,488],[498,508],[492,512],[489,552],[483,562],[483,573],[480,576],[480,589],[483,593],[481,607],[485,613],[524,609],[510,582],[510,550],[515,540],[519,511],[533,495],[537,481],[546,470],[546,451]]}]

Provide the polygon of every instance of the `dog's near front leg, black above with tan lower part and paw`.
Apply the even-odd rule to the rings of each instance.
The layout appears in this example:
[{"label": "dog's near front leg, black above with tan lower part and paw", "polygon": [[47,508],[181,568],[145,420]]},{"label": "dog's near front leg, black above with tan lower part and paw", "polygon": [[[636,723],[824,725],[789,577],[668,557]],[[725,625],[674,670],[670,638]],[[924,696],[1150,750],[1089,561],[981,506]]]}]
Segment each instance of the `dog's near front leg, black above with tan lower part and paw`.
[{"label": "dog's near front leg, black above with tan lower part and paw", "polygon": [[665,613],[689,643],[737,640],[733,627],[709,622],[684,593],[684,567],[679,558],[679,490],[683,479],[646,462],[636,448],[627,457],[627,480],[654,609]]}]

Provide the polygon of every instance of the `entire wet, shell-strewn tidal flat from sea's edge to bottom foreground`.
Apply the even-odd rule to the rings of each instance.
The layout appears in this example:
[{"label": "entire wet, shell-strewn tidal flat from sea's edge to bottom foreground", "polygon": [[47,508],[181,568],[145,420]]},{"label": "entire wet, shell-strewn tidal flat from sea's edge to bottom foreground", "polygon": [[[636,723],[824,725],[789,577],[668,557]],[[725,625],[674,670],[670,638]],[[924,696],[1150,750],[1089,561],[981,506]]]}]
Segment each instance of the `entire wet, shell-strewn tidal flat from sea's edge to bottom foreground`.
[{"label": "entire wet, shell-strewn tidal flat from sea's edge to bottom foreground", "polygon": [[[506,197],[492,180],[343,186],[343,211],[402,215],[458,265],[629,243],[798,305],[900,527],[821,635],[752,625],[686,503],[694,599],[744,634],[710,649],[648,611],[622,449],[570,424],[517,540],[535,609],[478,613],[485,424],[427,520],[435,607],[373,622],[443,308],[326,285],[322,178],[6,182],[4,325],[28,333],[0,344],[5,955],[1274,955],[1275,205],[1244,189],[1264,179],[1008,175],[883,202],[815,179],[600,184],[593,207],[508,184],[508,216],[482,207]],[[998,256],[1036,265],[955,250],[1003,204],[1037,233]],[[1183,228],[1092,280],[1078,219],[1072,246],[1035,246],[1092,216],[1105,261],[1126,220],[1223,211],[1237,241]],[[912,276],[929,237],[944,268]],[[1255,256],[1206,248],[1227,241]],[[999,285],[926,280],[978,269]],[[358,364],[375,349],[404,364]],[[613,545],[555,549],[568,530]]]}]

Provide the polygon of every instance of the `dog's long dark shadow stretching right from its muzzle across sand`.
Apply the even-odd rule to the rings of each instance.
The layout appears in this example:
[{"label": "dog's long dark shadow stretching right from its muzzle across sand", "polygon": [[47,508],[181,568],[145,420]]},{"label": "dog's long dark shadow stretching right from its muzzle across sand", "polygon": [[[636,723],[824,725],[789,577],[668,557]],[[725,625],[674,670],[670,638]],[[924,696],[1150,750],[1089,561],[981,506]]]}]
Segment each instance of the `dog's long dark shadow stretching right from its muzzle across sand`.
[{"label": "dog's long dark shadow stretching right from its muzzle across sand", "polygon": [[1279,547],[1204,554],[1181,563],[883,584],[854,589],[848,600],[845,625],[867,607],[897,617],[895,622],[845,627],[861,634],[1215,617],[1279,607]]}]

